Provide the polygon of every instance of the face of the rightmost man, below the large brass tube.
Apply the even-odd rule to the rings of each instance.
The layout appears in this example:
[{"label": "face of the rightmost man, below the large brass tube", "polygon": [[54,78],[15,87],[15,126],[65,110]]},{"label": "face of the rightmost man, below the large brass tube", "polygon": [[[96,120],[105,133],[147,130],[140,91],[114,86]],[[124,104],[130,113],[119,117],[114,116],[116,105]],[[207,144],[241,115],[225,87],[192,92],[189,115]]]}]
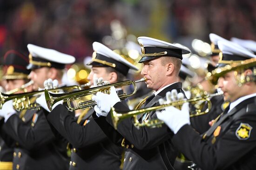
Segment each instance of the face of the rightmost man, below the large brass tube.
[{"label": "face of the rightmost man, below the large brass tube", "polygon": [[224,101],[235,101],[243,96],[243,86],[239,87],[236,82],[234,71],[226,73],[218,80],[218,86],[224,93]]}]

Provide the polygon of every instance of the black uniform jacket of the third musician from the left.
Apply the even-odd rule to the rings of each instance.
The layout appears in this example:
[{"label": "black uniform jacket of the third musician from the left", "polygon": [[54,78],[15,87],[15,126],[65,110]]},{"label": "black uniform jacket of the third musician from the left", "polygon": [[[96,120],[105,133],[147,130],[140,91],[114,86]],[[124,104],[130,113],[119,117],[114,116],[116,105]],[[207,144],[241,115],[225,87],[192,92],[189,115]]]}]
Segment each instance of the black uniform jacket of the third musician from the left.
[{"label": "black uniform jacket of the third musician from the left", "polygon": [[93,112],[90,109],[80,124],[64,110],[49,113],[47,120],[73,147],[69,170],[119,170],[123,149],[102,132],[91,116]]}]

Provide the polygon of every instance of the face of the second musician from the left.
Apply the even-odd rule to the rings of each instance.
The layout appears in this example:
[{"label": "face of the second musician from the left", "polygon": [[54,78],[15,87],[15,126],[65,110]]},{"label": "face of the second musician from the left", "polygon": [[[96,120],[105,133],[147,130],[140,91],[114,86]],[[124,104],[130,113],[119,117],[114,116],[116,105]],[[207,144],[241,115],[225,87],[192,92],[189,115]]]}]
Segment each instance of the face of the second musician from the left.
[{"label": "face of the second musician from the left", "polygon": [[44,88],[44,81],[48,79],[49,68],[42,67],[39,69],[33,69],[29,78],[34,81],[33,89],[37,90],[38,88]]}]

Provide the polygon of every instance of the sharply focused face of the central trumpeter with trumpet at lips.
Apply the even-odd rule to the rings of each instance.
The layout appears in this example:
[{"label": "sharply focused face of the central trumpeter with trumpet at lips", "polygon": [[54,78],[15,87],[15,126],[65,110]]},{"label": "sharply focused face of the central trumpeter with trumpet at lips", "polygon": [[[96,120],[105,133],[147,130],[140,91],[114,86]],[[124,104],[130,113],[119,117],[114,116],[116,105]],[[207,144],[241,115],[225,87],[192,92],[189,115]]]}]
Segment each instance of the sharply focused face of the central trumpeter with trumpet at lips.
[{"label": "sharply focused face of the central trumpeter with trumpet at lips", "polygon": [[166,67],[162,65],[161,58],[143,62],[141,75],[147,78],[147,87],[155,91],[164,87]]}]

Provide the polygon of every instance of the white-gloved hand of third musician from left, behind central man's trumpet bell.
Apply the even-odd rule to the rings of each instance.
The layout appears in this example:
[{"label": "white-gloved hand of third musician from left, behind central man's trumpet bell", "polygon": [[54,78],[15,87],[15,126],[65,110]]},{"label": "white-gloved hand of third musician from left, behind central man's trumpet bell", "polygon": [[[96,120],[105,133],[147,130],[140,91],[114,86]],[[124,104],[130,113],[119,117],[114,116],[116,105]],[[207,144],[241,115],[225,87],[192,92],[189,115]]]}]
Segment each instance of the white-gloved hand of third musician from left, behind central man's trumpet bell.
[{"label": "white-gloved hand of third musician from left, behind central man's trumpet bell", "polygon": [[[57,88],[58,87],[58,81],[57,80],[54,80],[54,81],[52,81],[52,79],[48,79],[48,80],[46,80],[45,82],[44,82],[44,86],[45,86],[45,88],[46,89],[51,89],[51,88]],[[47,103],[46,103],[46,100],[45,100],[45,94],[43,93],[43,94],[41,94],[40,95],[40,97],[38,97],[37,99],[36,99],[36,102],[38,103],[38,104],[40,104],[40,106],[41,107],[43,107],[47,112],[51,112],[50,110],[49,110],[49,108],[47,107]],[[52,110],[56,107],[56,106],[58,106],[59,104],[63,104],[63,100],[62,101],[58,101],[57,103],[55,103],[54,105],[53,105],[53,107],[52,107]]]}]

